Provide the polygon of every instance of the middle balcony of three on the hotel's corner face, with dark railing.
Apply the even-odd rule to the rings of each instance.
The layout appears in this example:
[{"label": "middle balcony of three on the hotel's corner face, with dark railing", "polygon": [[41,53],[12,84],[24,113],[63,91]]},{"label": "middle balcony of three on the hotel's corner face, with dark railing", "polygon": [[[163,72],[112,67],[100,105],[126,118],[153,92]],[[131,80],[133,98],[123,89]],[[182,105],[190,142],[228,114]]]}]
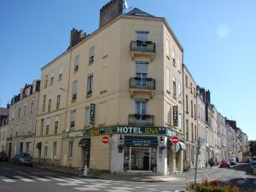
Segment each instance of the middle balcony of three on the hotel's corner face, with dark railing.
[{"label": "middle balcony of three on the hotel's corner face, with dark railing", "polygon": [[150,97],[152,98],[155,92],[155,79],[131,78],[129,82],[129,88],[131,97],[133,97],[136,92],[145,92],[149,93]]}]

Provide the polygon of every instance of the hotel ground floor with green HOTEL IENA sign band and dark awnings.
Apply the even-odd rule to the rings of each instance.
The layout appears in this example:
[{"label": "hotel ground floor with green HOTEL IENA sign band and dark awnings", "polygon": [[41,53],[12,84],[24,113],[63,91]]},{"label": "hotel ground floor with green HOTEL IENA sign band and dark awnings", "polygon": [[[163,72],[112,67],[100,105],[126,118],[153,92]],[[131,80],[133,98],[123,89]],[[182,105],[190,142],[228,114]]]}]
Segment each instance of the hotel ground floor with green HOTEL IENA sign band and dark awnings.
[{"label": "hotel ground floor with green HOTEL IENA sign band and dark awnings", "polygon": [[178,135],[166,127],[135,126],[71,131],[62,138],[61,165],[112,173],[182,172],[185,145],[172,145],[172,134]]}]

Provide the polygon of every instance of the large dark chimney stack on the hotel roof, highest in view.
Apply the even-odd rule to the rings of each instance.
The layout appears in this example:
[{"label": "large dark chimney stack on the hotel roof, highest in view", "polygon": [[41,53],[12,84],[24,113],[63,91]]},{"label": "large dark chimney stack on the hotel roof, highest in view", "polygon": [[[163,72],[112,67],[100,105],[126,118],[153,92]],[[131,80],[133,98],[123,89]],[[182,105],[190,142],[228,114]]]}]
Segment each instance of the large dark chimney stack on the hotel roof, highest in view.
[{"label": "large dark chimney stack on the hotel roof, highest in view", "polygon": [[100,28],[123,14],[123,0],[112,0],[100,10]]}]

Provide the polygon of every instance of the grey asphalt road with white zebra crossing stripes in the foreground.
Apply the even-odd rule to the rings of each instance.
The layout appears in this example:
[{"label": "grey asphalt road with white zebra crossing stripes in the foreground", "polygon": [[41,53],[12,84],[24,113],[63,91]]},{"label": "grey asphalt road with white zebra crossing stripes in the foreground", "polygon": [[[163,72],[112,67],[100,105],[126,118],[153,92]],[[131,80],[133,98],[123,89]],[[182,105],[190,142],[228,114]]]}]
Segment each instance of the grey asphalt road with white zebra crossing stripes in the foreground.
[{"label": "grey asphalt road with white zebra crossing stripes in the foreground", "polygon": [[[232,183],[241,189],[256,189],[256,177],[247,173],[248,164],[233,166],[230,169],[200,170],[198,181],[202,179],[218,179],[221,183]],[[163,177],[163,181],[115,181],[89,177],[74,177],[38,169],[30,166],[19,166],[0,162],[0,191],[2,192],[76,192],[76,191],[172,191],[185,189],[189,182],[194,181],[194,171],[183,172],[171,177]]]}]

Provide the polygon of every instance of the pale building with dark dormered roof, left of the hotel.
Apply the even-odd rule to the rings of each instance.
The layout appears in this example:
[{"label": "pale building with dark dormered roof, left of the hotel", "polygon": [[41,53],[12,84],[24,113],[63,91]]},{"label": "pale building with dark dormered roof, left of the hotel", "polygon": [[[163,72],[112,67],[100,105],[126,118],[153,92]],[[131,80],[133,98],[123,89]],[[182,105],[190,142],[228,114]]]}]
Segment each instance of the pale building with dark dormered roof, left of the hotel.
[{"label": "pale building with dark dormered roof, left of the hotel", "polygon": [[34,80],[20,89],[20,94],[11,100],[7,131],[9,158],[16,152],[33,155],[39,87],[40,80]]}]

